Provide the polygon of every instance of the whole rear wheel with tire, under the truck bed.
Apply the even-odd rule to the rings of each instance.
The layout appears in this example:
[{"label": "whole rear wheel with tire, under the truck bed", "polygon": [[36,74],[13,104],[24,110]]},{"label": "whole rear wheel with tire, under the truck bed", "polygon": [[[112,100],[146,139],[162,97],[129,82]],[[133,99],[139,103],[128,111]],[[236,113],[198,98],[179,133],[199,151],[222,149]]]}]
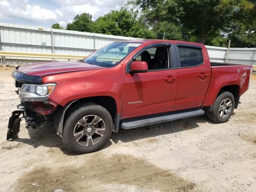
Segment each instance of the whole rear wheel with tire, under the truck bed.
[{"label": "whole rear wheel with tire, under the truck bed", "polygon": [[210,111],[206,112],[208,118],[216,123],[227,122],[234,111],[235,99],[232,93],[221,92],[216,98]]}]

